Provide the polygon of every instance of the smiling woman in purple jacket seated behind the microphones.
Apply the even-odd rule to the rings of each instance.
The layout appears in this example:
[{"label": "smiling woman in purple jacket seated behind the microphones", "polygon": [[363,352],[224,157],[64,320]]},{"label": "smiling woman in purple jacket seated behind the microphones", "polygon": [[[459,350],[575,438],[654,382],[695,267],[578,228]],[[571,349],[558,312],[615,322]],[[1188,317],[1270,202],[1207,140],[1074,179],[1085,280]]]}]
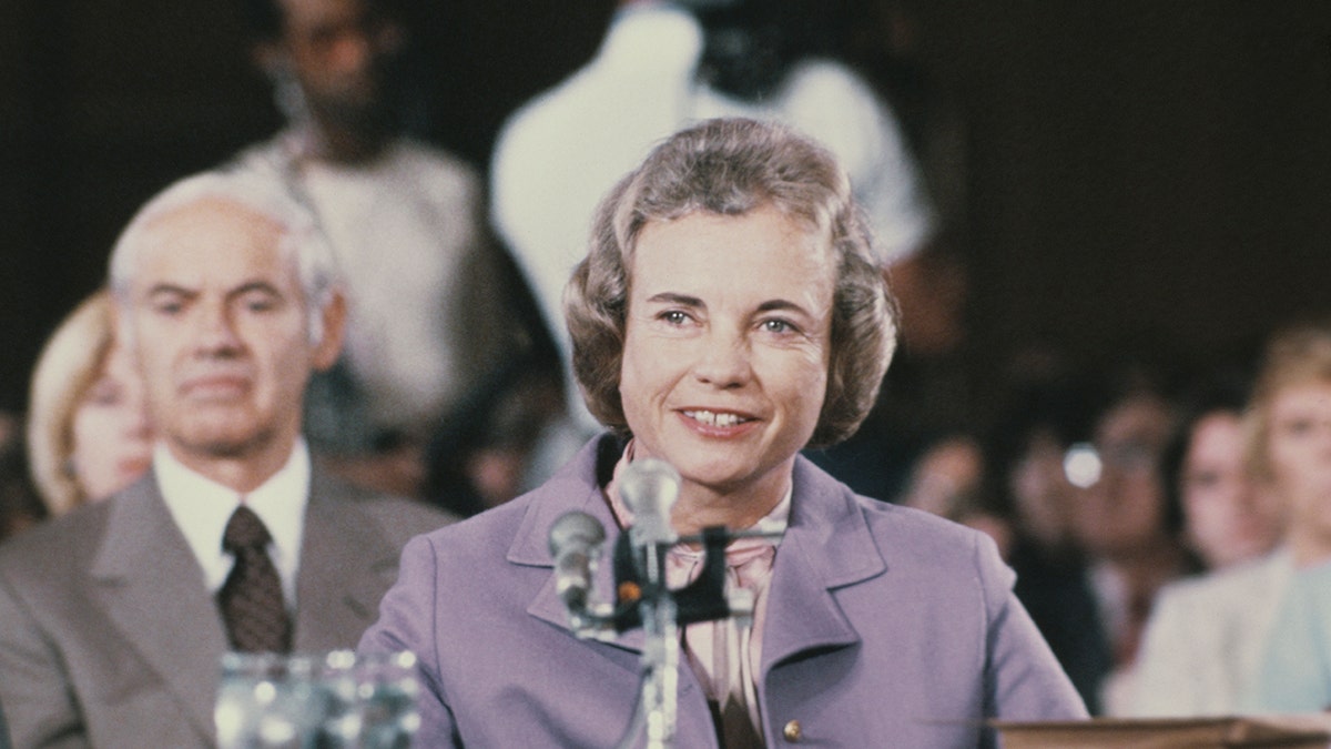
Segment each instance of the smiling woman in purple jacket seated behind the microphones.
[{"label": "smiling woman in purple jacket seated behind the microphones", "polygon": [[[1085,714],[988,537],[857,497],[799,456],[856,429],[894,339],[827,151],[751,120],[672,136],[600,205],[566,312],[588,408],[615,434],[535,492],[417,538],[361,642],[421,656],[422,745],[615,744],[643,637],[574,637],[547,532],[576,509],[612,544],[631,524],[616,476],[646,457],[681,476],[680,534],[788,528],[727,553],[752,630],[688,628],[679,746],[976,746],[988,717]],[[696,561],[683,548],[667,566]]]}]

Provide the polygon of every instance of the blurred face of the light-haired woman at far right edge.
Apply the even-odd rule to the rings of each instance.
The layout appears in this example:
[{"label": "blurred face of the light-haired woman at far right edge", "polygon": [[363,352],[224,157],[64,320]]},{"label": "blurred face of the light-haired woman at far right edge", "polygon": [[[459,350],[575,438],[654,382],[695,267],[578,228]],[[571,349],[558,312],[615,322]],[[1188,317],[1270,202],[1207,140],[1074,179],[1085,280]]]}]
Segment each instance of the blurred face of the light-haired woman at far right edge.
[{"label": "blurred face of the light-haired woman at far right edge", "polygon": [[1267,461],[1302,561],[1331,556],[1331,382],[1291,385],[1271,398]]}]

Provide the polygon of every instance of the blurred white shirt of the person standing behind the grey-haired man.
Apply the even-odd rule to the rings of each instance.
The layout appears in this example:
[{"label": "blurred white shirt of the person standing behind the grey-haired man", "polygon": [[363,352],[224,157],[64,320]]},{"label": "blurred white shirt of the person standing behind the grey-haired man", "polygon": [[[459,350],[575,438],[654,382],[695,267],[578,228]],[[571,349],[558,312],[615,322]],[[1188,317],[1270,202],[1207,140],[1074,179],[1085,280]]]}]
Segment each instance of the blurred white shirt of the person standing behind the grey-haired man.
[{"label": "blurred white shirt of the person standing behind the grey-haired man", "polygon": [[333,248],[362,426],[429,438],[507,353],[515,320],[498,291],[502,256],[486,239],[480,176],[413,140],[337,164],[307,156],[307,137],[299,128],[280,133],[238,165],[281,181],[315,213]]}]

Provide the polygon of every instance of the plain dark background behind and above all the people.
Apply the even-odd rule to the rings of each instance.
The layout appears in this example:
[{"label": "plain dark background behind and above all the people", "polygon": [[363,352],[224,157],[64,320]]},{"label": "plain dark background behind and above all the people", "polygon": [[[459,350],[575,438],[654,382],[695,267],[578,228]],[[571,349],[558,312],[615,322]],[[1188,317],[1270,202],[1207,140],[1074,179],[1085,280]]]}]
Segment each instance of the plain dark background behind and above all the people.
[{"label": "plain dark background behind and above all the people", "polygon": [[[434,140],[483,167],[611,7],[418,5]],[[972,269],[974,380],[1033,341],[1206,361],[1331,312],[1331,3],[817,7],[925,135]],[[278,124],[228,0],[0,3],[0,408],[24,406],[134,208]]]}]

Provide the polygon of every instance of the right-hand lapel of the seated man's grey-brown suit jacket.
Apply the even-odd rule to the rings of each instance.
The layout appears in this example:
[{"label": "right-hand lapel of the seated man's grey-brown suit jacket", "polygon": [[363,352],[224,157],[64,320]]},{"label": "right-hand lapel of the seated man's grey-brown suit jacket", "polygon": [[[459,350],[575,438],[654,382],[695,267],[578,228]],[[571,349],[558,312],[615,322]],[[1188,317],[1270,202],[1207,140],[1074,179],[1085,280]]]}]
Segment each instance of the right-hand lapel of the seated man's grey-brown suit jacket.
[{"label": "right-hand lapel of the seated man's grey-brown suit jacket", "polygon": [[315,468],[301,540],[295,649],[355,648],[397,578],[398,557],[379,524]]}]

